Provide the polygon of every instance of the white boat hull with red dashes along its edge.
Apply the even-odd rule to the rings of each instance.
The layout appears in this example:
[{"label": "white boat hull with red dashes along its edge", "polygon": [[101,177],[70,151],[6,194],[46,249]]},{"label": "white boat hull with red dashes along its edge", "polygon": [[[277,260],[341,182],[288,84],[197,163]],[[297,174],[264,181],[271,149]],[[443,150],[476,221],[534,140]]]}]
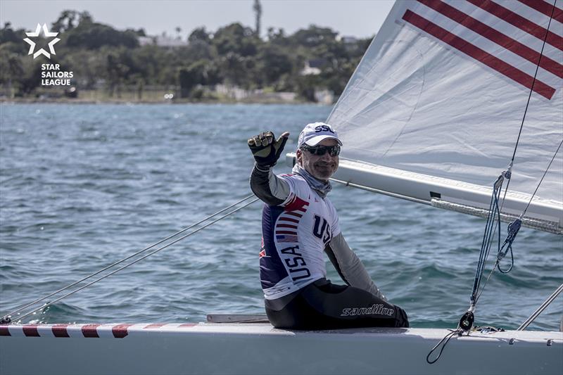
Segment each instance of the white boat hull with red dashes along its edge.
[{"label": "white boat hull with red dashes along its edge", "polygon": [[[0,326],[1,374],[562,374],[563,333],[270,324]],[[9,335],[9,336],[8,336]]]}]

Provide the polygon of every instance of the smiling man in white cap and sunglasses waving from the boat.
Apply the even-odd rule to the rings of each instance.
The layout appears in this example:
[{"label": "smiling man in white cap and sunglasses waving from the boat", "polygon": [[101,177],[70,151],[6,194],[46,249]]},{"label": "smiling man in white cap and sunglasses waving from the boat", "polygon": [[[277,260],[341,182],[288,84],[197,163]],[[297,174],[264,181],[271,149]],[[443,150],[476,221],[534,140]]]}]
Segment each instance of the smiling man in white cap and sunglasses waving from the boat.
[{"label": "smiling man in white cap and sunglasses waving from the boat", "polygon": [[[288,137],[264,132],[248,139],[255,159],[251,189],[265,203],[260,281],[268,319],[286,329],[409,326],[405,311],[387,302],[344,240],[327,198],[339,166],[338,134],[322,122],[305,126],[291,174],[275,175]],[[346,285],[326,279],[323,253]]]}]

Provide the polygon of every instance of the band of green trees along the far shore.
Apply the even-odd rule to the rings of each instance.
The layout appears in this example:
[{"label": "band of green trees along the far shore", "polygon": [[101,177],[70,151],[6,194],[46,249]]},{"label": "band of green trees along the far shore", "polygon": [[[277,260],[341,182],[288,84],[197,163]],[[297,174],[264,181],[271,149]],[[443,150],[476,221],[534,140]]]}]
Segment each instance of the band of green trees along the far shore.
[{"label": "band of green trees along the far shore", "polygon": [[[27,56],[25,30],[14,30],[10,23],[0,29],[0,85],[11,87],[16,96],[32,96],[41,64],[57,63],[74,72],[79,89],[102,85],[110,95],[123,86],[159,86],[178,89],[184,98],[201,98],[201,87],[226,84],[293,91],[314,101],[315,89],[341,93],[371,41],[346,42],[338,32],[315,25],[293,34],[270,27],[262,39],[251,27],[232,23],[214,32],[198,27],[182,46],[167,47],[146,44],[142,29],[116,30],[77,11],[63,11],[50,31],[59,32],[61,41],[49,61]],[[315,61],[319,74],[303,75],[307,61]]]}]

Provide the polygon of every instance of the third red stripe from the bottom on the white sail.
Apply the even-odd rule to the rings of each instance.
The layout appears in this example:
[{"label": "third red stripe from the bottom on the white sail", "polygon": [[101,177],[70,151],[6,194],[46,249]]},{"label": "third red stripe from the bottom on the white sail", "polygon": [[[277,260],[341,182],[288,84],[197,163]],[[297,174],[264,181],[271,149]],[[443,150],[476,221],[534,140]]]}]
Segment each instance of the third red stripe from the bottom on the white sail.
[{"label": "third red stripe from the bottom on the white sail", "polygon": [[[563,38],[559,37],[559,35],[555,34],[554,32],[550,32],[546,30],[544,27],[537,25],[536,23],[531,22],[531,20],[527,20],[526,18],[522,17],[518,13],[514,13],[509,9],[505,8],[504,6],[500,6],[491,0],[467,0],[474,6],[479,6],[479,8],[488,11],[492,15],[500,18],[501,20],[505,20],[507,23],[518,27],[520,30],[524,30],[528,34],[533,35],[534,37],[543,40],[545,42],[551,44],[557,49],[563,51]],[[545,33],[548,33],[548,37],[545,38]]]}]

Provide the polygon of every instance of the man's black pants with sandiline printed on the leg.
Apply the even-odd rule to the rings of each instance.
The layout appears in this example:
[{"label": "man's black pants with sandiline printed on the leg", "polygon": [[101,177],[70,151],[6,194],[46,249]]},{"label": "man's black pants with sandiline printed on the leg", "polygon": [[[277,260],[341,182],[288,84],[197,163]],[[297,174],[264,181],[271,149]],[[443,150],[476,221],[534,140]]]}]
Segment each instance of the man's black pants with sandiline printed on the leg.
[{"label": "man's black pants with sandiline printed on the leg", "polygon": [[339,329],[407,327],[403,309],[353,286],[320,279],[277,300],[265,300],[266,314],[276,328]]}]

